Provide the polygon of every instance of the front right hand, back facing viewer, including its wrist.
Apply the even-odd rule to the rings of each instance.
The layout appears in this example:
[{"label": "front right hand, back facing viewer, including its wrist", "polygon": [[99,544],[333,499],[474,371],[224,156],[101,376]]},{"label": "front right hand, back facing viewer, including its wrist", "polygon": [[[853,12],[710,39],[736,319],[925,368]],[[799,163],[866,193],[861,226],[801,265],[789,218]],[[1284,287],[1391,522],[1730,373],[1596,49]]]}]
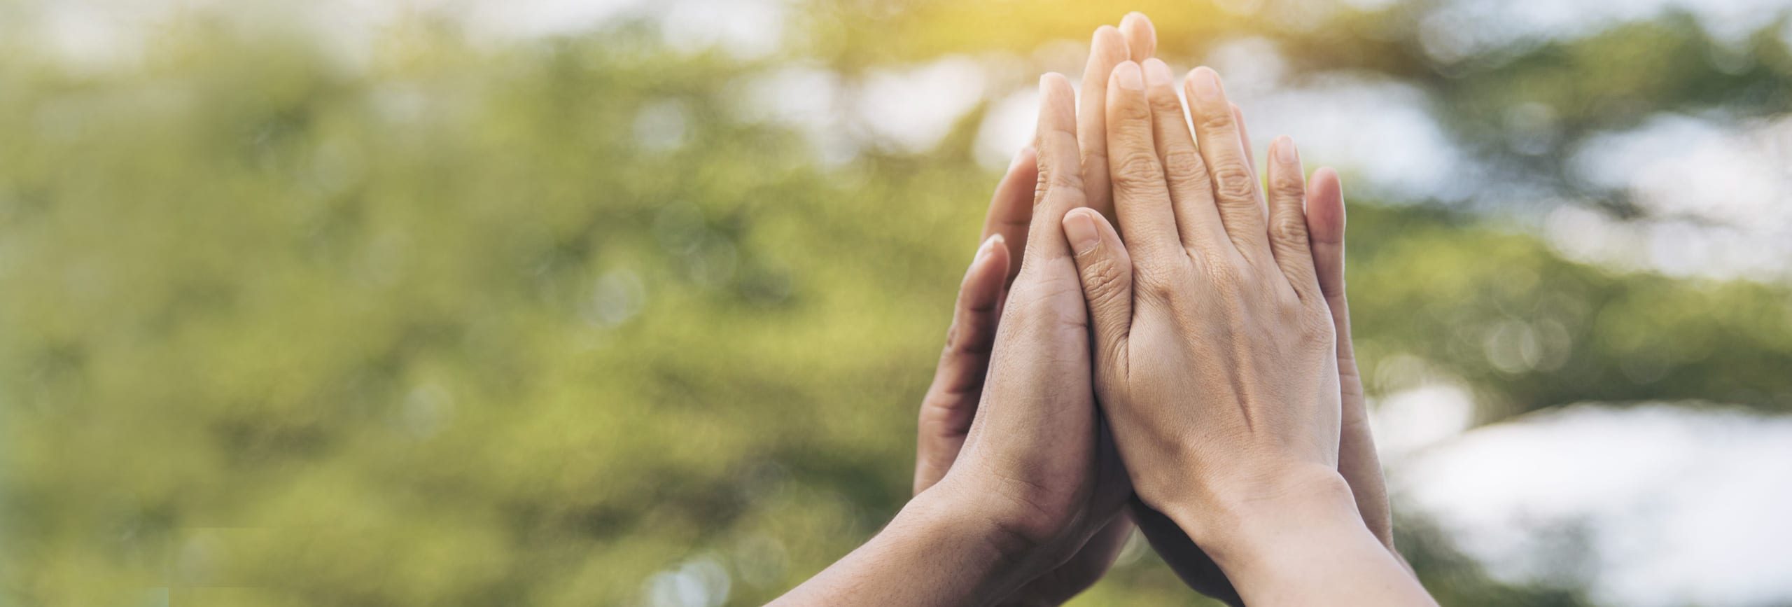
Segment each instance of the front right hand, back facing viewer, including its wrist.
[{"label": "front right hand, back facing viewer, including its wrist", "polygon": [[[1217,75],[1195,70],[1185,86],[1199,149],[1163,63],[1115,70],[1107,147],[1125,240],[1098,213],[1064,220],[1097,390],[1140,500],[1208,548],[1251,603],[1349,589],[1364,602],[1425,602],[1337,471],[1335,328],[1292,143],[1272,147],[1265,224]],[[1290,535],[1314,543],[1292,546]],[[1398,580],[1376,575],[1383,566]]]}]

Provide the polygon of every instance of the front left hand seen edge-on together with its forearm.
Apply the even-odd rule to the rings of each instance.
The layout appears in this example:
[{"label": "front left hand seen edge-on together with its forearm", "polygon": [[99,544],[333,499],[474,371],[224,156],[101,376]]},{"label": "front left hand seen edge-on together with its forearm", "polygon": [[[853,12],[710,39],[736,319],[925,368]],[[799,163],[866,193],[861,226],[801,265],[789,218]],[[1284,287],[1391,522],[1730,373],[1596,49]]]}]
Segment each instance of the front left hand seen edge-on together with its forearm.
[{"label": "front left hand seen edge-on together with its forearm", "polygon": [[993,603],[1070,562],[1125,507],[1131,487],[1100,430],[1088,308],[1059,227],[1084,204],[1075,93],[1055,73],[1039,93],[1025,254],[957,458],[882,534],[776,603]]}]

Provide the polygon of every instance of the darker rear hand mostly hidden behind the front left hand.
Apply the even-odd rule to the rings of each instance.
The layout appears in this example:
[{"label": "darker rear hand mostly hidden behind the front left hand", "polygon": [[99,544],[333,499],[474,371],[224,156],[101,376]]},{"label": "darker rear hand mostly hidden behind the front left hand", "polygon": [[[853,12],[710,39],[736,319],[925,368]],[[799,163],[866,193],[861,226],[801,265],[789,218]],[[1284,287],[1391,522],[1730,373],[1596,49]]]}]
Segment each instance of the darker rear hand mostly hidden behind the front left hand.
[{"label": "darker rear hand mostly hidden behind the front left hand", "polygon": [[[1111,209],[1107,188],[1104,95],[1107,73],[1115,64],[1149,57],[1156,48],[1156,32],[1143,14],[1133,13],[1120,20],[1120,29],[1100,27],[1090,43],[1090,61],[1082,75],[1082,107],[1077,111],[1077,136],[1082,149],[1082,175],[1086,202]],[[1036,154],[1029,147],[1009,165],[1007,175],[996,184],[995,199],[984,218],[984,244],[977,249],[971,267],[959,286],[952,329],[939,356],[934,383],[921,401],[919,437],[916,444],[914,492],[932,487],[952,469],[964,437],[969,433],[982,399],[984,374],[995,347],[1002,301],[1007,295],[1020,261],[1011,261],[1009,242],[1025,244],[1032,218],[1032,184],[1038,177]],[[1106,432],[1106,430],[1104,430]],[[1009,596],[1005,603],[1059,605],[1093,586],[1125,544],[1133,532],[1131,517],[1122,512],[1098,530],[1063,566]],[[1192,546],[1192,544],[1190,544]]]}]

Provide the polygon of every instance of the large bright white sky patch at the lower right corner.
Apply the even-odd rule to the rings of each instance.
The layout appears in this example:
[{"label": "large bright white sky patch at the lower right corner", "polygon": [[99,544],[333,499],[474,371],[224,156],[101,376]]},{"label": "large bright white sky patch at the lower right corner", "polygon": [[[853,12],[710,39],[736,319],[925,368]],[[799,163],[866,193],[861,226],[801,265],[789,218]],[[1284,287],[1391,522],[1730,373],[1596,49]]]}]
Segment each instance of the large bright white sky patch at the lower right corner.
[{"label": "large bright white sky patch at the lower right corner", "polygon": [[1575,539],[1588,559],[1570,566],[1598,571],[1604,603],[1792,600],[1792,419],[1582,405],[1394,457],[1389,473],[1505,578],[1550,578],[1563,564],[1534,555]]}]

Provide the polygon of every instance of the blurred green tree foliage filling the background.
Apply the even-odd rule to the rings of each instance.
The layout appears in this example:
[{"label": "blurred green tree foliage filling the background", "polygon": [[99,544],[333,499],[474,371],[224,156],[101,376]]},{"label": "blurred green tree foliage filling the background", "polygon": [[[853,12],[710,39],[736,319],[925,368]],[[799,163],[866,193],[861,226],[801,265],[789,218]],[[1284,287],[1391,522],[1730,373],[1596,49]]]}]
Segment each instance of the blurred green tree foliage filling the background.
[{"label": "blurred green tree foliage filling the background", "polygon": [[[1050,5],[815,4],[803,54],[855,73],[1118,16]],[[1140,9],[1168,54],[1249,25]],[[1305,70],[1495,107],[1507,82],[1584,107],[1647,82],[1681,107],[1792,77],[1783,45],[1744,75],[1658,82],[1633,72],[1699,68],[1622,52],[1629,77],[1573,75],[1661,30],[1701,43],[1663,20],[1446,81],[1403,30],[1349,38],[1374,18],[1271,34],[1360,43]],[[351,68],[321,36],[206,14],[129,70],[5,47],[0,605],[633,605],[690,580],[747,605],[846,553],[907,498],[996,175],[975,116],[926,154],[817,163],[738,107],[785,59],[672,52],[645,21],[487,48],[412,20]],[[1792,408],[1783,286],[1611,274],[1500,215],[1385,202],[1349,224],[1376,394],[1423,360],[1482,421]],[[1586,602],[1493,582],[1425,521],[1401,534],[1444,603]],[[1081,602],[1201,603],[1149,555]]]}]

